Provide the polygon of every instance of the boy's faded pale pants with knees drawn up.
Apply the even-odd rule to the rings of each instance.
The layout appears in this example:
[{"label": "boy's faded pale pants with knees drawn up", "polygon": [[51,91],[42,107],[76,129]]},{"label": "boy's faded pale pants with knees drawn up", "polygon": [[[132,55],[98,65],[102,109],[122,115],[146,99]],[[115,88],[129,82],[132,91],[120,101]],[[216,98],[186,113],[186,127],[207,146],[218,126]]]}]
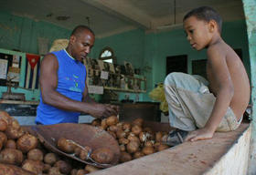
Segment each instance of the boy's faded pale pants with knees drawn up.
[{"label": "boy's faded pale pants with knees drawn up", "polygon": [[[171,73],[165,77],[165,98],[168,103],[170,125],[176,129],[203,128],[211,114],[216,98],[208,89],[204,77]],[[217,131],[235,130],[240,126],[231,108],[227,109]]]}]

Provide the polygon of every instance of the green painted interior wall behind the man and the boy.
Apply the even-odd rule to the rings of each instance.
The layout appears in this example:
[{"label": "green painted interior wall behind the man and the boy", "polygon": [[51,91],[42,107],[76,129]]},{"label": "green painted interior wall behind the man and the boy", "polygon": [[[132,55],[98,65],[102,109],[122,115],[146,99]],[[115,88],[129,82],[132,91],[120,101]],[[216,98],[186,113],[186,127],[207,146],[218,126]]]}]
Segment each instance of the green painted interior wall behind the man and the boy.
[{"label": "green painted interior wall behind the man and the boy", "polygon": [[[244,65],[250,72],[250,60],[248,54],[248,40],[245,21],[234,21],[223,24],[222,36],[233,48],[242,49]],[[52,24],[10,15],[0,12],[0,48],[18,49],[22,52],[37,54],[37,37],[49,39],[49,46],[57,38],[68,38],[70,30],[54,26]],[[188,73],[191,73],[191,62],[195,59],[206,59],[206,52],[193,50],[186,39],[182,28],[161,33],[145,34],[144,30],[135,29],[122,34],[97,38],[95,46],[91,49],[90,57],[98,58],[101,49],[105,46],[112,47],[117,64],[123,65],[123,61],[129,61],[135,68],[151,70],[143,71],[147,79],[147,92],[150,92],[155,84],[165,79],[165,59],[169,56],[187,55]],[[0,92],[5,88],[0,87]],[[120,99],[127,93],[119,93]],[[128,93],[134,99],[135,94]],[[27,97],[31,92],[26,92]],[[37,96],[37,95],[35,95]],[[35,97],[34,97],[35,98]],[[149,101],[148,93],[140,94],[140,100]]]}]

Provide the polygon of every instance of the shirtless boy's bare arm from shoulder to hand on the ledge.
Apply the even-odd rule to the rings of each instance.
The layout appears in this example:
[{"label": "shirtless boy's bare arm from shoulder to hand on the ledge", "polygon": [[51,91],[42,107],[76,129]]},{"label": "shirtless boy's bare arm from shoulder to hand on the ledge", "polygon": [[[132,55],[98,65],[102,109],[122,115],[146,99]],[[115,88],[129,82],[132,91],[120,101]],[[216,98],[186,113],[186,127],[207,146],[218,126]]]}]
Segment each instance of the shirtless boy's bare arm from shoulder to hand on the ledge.
[{"label": "shirtless boy's bare arm from shoulder to hand on the ledge", "polygon": [[[214,47],[216,48],[216,46]],[[217,92],[215,92],[216,101],[205,127],[191,132],[186,140],[211,139],[221,119],[225,116],[234,94],[234,87],[229,75],[226,57],[221,55],[221,51],[214,47],[208,48],[208,67],[212,72],[212,78],[217,83],[217,85],[214,85],[218,88]]]}]

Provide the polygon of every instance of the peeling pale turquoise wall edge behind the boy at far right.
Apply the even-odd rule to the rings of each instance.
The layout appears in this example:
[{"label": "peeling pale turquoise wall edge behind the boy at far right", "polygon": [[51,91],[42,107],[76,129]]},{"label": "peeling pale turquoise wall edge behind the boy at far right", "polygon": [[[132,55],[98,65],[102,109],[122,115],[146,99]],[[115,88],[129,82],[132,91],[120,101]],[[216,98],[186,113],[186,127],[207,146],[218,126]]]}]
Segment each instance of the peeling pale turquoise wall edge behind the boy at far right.
[{"label": "peeling pale turquoise wall edge behind the boy at far right", "polygon": [[249,55],[251,61],[251,103],[252,103],[252,134],[251,134],[251,161],[249,173],[256,174],[256,0],[242,0],[246,17]]}]

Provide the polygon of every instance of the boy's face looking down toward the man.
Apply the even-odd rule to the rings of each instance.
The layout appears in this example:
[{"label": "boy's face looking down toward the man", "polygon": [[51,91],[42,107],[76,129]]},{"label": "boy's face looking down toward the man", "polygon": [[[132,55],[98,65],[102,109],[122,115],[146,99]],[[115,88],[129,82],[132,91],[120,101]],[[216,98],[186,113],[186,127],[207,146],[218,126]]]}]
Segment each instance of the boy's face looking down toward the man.
[{"label": "boy's face looking down toward the man", "polygon": [[184,29],[187,40],[193,48],[201,50],[208,46],[211,33],[207,22],[197,19],[196,16],[190,16],[184,21]]}]

